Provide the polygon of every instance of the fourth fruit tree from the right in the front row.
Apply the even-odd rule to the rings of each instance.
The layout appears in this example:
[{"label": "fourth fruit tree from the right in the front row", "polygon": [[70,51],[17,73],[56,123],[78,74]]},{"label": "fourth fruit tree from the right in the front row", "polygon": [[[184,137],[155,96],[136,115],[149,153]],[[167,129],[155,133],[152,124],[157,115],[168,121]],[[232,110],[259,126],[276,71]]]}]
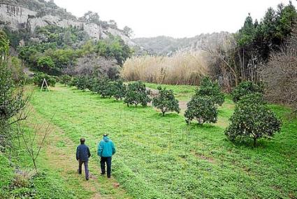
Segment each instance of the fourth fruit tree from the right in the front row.
[{"label": "fourth fruit tree from the right in the front row", "polygon": [[143,107],[147,106],[147,103],[151,101],[150,90],[145,88],[145,84],[142,81],[136,81],[134,83],[129,83],[126,91],[126,97],[124,103],[129,105],[141,104]]}]

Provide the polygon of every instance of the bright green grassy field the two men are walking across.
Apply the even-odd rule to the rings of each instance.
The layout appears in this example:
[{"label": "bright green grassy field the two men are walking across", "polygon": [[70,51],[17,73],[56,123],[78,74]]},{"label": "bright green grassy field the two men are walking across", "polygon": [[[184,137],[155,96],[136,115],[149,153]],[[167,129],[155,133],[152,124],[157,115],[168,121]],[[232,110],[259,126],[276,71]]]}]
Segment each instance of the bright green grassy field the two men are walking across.
[{"label": "bright green grassy field the two men are walking across", "polygon": [[[192,86],[166,87],[180,100],[194,92]],[[55,170],[66,188],[78,186],[75,195],[81,188],[90,198],[98,191],[111,198],[297,197],[296,120],[284,121],[282,133],[270,141],[259,140],[253,148],[249,143],[233,144],[224,135],[234,107],[229,99],[219,108],[218,123],[203,127],[186,125],[182,114],[162,117],[152,107],[126,107],[114,99],[62,85],[51,92],[36,89],[31,104],[40,120],[49,121],[55,114],[55,131],[39,162]],[[278,116],[289,111],[271,107]],[[111,182],[99,177],[96,146],[103,133],[109,133],[117,146]],[[90,172],[94,179],[88,184],[75,174],[75,144],[80,137],[86,138],[93,154]],[[52,163],[55,156],[57,163]],[[119,188],[113,186],[117,182]],[[97,185],[99,190],[92,190]]]}]

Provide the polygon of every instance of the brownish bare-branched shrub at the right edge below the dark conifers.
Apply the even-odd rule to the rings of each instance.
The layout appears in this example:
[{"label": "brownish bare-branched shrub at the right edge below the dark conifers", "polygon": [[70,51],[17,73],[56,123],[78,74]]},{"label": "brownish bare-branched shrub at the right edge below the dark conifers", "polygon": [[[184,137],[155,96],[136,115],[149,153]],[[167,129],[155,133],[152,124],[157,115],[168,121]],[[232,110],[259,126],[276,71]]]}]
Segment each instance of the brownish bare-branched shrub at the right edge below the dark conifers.
[{"label": "brownish bare-branched shrub at the right edge below the dark conifers", "polygon": [[266,97],[271,102],[289,104],[297,110],[297,29],[280,52],[273,53],[268,64],[261,67],[266,83]]}]

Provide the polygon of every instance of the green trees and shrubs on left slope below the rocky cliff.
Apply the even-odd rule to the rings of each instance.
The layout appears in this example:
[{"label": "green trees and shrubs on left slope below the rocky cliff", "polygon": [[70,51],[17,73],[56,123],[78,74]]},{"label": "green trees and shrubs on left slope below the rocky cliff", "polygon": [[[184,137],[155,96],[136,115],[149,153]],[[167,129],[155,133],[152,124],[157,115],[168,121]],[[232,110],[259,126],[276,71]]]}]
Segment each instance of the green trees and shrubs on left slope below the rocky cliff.
[{"label": "green trees and shrubs on left slope below the rocky cliff", "polygon": [[51,75],[64,73],[77,64],[78,58],[89,54],[115,59],[122,65],[132,53],[119,36],[93,41],[77,27],[48,25],[38,27],[34,35],[38,41],[27,40],[26,46],[19,48],[19,56],[32,69]]}]

